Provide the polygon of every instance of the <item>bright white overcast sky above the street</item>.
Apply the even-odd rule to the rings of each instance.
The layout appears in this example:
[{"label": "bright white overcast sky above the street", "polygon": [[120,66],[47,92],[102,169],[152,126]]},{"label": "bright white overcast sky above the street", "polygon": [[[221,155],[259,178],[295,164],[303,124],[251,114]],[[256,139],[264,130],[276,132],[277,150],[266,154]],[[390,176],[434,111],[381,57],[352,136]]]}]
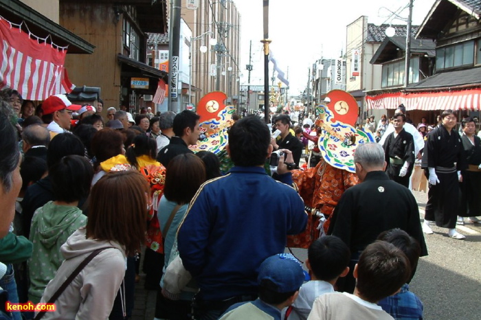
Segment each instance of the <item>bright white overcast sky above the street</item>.
[{"label": "bright white overcast sky above the street", "polygon": [[[415,0],[413,24],[420,25],[435,0]],[[252,41],[251,84],[264,82],[262,56],[262,0],[234,0],[241,15],[240,67],[247,84],[249,41]],[[346,50],[346,26],[360,16],[368,16],[368,23],[405,24],[390,11],[407,18],[408,0],[271,0],[269,1],[269,38],[271,50],[279,66],[287,72],[289,66],[290,94],[303,91],[307,73],[320,58],[337,58]],[[383,8],[385,7],[385,8]],[[404,10],[400,10],[405,8]],[[390,10],[390,11],[389,11]],[[272,74],[272,64],[269,67]],[[242,70],[243,69],[243,70]],[[276,80],[276,83],[278,80]],[[269,81],[270,84],[270,81]]]}]

